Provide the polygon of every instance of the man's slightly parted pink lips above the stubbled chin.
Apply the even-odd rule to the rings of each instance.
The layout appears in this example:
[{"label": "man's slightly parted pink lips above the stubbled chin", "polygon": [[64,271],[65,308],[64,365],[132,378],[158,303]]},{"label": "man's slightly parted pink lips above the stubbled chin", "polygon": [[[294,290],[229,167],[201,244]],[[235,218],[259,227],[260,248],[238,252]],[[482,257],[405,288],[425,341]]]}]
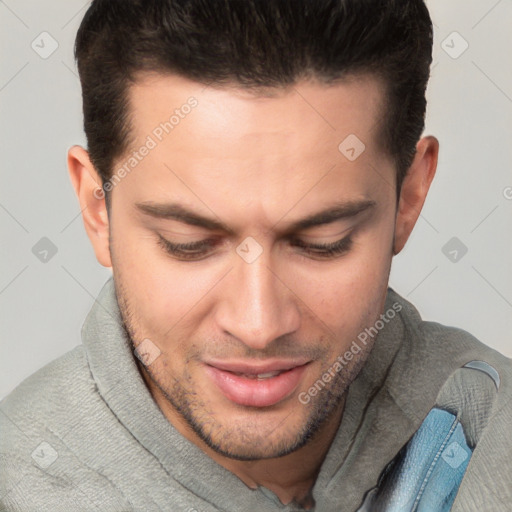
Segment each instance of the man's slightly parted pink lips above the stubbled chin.
[{"label": "man's slightly parted pink lips above the stubbled chin", "polygon": [[[209,362],[207,375],[231,402],[246,407],[270,407],[289,397],[297,388],[309,361],[267,361],[250,364],[243,361]],[[281,371],[268,379],[237,375],[261,375]]]}]

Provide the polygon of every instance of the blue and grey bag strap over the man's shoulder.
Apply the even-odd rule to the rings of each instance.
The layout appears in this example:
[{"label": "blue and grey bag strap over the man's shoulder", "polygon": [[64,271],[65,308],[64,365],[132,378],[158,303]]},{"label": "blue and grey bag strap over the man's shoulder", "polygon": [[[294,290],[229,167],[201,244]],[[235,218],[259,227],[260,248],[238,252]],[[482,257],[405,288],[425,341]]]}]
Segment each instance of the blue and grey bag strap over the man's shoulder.
[{"label": "blue and grey bag strap over the man's shoulder", "polygon": [[358,512],[449,511],[499,386],[498,372],[485,361],[470,361],[455,370]]}]

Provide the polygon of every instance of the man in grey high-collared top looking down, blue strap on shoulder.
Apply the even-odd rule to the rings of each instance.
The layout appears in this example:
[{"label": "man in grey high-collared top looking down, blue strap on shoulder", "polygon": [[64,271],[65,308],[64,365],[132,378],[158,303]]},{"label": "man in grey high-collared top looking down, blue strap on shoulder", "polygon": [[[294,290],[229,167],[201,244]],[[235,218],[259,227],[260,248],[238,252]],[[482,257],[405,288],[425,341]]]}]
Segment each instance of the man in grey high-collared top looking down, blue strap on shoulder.
[{"label": "man in grey high-collared top looking down, blue strap on shoulder", "polygon": [[388,287],[421,0],[95,0],[68,165],[113,278],[1,403],[5,510],[510,510],[510,360]]}]

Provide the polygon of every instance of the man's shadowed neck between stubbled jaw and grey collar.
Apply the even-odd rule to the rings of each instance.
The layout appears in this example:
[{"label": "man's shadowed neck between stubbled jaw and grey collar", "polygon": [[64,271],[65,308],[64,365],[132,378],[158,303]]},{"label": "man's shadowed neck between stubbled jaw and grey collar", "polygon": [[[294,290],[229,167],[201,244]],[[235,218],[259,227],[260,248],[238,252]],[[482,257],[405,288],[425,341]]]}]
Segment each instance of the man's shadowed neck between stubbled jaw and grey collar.
[{"label": "man's shadowed neck between stubbled jaw and grey collar", "polygon": [[236,475],[251,489],[266,487],[276,494],[283,505],[295,502],[304,509],[314,505],[312,489],[322,463],[338,431],[345,397],[336,415],[325,422],[305,446],[285,455],[271,459],[240,461],[217,453],[200,439],[192,429],[178,417],[172,405],[161,390],[155,385],[146,370],[142,367],[142,376],[156,403],[168,421],[186,439],[197,445],[215,462]]}]

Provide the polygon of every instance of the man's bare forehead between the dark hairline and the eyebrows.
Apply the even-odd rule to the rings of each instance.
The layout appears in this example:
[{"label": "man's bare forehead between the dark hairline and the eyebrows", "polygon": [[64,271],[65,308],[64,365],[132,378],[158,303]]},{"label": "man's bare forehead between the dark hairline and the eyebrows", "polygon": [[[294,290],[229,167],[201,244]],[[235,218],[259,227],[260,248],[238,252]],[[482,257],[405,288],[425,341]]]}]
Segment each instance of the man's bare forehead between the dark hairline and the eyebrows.
[{"label": "man's bare forehead between the dark hairline and the eyebrows", "polygon": [[[146,75],[129,91],[130,151],[151,141],[126,180],[130,200],[185,199],[204,213],[205,205],[219,216],[237,209],[272,223],[299,200],[313,210],[375,199],[382,105],[383,87],[369,76],[255,93]],[[364,148],[357,159],[343,152],[351,146]]]}]

